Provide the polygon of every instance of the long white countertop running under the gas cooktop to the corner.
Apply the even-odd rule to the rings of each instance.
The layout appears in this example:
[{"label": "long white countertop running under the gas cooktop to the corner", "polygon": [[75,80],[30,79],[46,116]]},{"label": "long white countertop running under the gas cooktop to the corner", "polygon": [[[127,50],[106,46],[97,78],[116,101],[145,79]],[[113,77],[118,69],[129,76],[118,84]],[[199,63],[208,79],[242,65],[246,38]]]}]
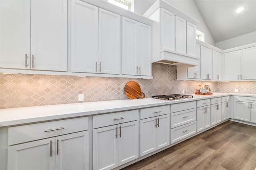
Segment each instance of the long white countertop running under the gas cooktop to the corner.
[{"label": "long white countertop running under the gas cooktop to the corner", "polygon": [[214,93],[212,95],[193,95],[193,98],[183,100],[158,100],[153,98],[135,99],[135,100],[110,100],[102,102],[84,102],[74,104],[58,104],[48,106],[17,107],[10,109],[0,109],[0,127],[18,125],[24,123],[34,123],[40,121],[50,121],[70,117],[80,117],[86,115],[95,115],[101,113],[110,113],[130,109],[139,109],[143,107],[154,107],[166,104],[176,104],[203,100],[208,98],[222,96],[252,96],[256,94],[230,94]]}]

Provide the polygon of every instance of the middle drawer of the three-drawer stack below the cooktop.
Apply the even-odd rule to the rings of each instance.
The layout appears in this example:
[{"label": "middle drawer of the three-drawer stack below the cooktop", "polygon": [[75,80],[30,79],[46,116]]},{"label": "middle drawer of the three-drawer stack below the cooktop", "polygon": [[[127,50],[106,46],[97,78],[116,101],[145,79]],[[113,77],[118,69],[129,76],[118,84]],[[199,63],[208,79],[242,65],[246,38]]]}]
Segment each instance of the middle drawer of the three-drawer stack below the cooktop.
[{"label": "middle drawer of the three-drawer stack below the cooktop", "polygon": [[171,113],[171,129],[196,121],[196,108]]}]

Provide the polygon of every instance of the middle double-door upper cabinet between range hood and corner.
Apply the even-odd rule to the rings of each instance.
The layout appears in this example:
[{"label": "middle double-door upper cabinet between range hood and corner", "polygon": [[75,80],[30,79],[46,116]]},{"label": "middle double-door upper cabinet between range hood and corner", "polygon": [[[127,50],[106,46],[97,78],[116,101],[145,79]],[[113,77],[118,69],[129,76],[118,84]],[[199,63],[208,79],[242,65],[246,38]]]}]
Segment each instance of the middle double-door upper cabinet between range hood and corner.
[{"label": "middle double-door upper cabinet between range hood and corner", "polygon": [[201,46],[201,79],[212,79],[212,49]]}]

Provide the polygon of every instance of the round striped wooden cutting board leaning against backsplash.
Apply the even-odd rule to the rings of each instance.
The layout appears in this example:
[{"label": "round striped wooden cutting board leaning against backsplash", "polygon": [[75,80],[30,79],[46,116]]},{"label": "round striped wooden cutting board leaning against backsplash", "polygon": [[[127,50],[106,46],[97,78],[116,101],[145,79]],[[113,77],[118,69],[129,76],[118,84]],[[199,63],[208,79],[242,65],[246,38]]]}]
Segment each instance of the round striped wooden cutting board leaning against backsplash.
[{"label": "round striped wooden cutting board leaning against backsplash", "polygon": [[129,99],[145,98],[145,94],[140,90],[140,85],[134,81],[126,83],[124,92]]}]

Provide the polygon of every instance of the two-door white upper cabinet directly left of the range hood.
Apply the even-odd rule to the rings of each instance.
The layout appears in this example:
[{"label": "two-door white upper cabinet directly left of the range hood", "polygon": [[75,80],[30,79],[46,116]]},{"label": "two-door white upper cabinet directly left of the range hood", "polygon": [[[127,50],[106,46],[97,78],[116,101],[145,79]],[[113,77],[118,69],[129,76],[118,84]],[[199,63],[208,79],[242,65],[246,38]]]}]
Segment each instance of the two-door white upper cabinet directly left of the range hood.
[{"label": "two-door white upper cabinet directly left of the range hood", "polygon": [[123,17],[122,74],[151,76],[151,26]]}]

